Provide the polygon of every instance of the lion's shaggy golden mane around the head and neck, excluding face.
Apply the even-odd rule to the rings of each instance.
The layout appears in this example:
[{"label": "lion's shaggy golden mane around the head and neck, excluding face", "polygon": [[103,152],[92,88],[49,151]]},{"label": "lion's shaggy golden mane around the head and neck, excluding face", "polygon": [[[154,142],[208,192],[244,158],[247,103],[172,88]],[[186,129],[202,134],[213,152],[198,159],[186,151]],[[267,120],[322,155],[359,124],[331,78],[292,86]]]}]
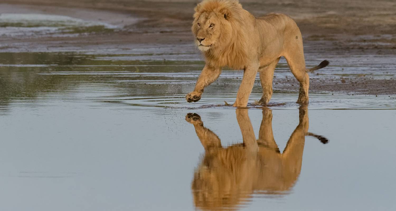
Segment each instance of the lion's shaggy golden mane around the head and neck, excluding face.
[{"label": "lion's shaggy golden mane around the head and neck, excluding face", "polygon": [[[242,8],[238,0],[204,0],[195,7],[192,30],[203,13],[215,13],[221,20],[222,34],[216,48],[204,52],[206,62],[212,67],[228,66],[243,69],[247,63],[247,34],[242,30],[243,20],[250,13]],[[227,22],[228,23],[227,23]],[[230,33],[225,33],[230,32]]]}]

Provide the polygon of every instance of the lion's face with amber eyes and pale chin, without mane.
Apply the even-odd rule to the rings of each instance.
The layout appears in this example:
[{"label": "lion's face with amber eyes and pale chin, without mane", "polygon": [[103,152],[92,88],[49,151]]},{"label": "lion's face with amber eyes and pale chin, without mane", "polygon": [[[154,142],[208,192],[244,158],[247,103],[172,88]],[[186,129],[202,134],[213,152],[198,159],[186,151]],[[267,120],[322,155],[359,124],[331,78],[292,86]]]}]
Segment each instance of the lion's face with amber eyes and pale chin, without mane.
[{"label": "lion's face with amber eyes and pale chin, without mane", "polygon": [[225,18],[219,16],[220,14],[214,12],[204,12],[192,23],[195,44],[201,51],[217,48],[223,43],[221,39],[227,34],[227,23]]}]

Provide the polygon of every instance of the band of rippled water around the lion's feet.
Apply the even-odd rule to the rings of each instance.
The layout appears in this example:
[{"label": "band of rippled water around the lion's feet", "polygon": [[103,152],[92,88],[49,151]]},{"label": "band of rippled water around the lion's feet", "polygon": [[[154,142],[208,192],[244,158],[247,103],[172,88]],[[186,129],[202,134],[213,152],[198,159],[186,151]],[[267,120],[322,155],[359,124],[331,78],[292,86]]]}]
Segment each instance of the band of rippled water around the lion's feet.
[{"label": "band of rippled water around the lion's feet", "polygon": [[[249,98],[249,108],[262,108],[261,105],[255,105],[254,101],[259,100],[261,94],[251,94]],[[298,94],[274,94],[270,101],[272,109],[295,109],[299,107],[297,101]],[[185,95],[158,96],[158,97],[118,97],[118,99],[106,100],[109,103],[123,103],[133,106],[154,106],[163,108],[222,108],[234,109],[230,106],[234,103],[236,94],[205,94],[202,99],[196,103],[187,103]],[[227,102],[230,105],[225,105]],[[328,94],[310,94],[308,108],[317,109],[396,109],[396,99],[392,97],[375,97],[367,95],[328,95]]]}]

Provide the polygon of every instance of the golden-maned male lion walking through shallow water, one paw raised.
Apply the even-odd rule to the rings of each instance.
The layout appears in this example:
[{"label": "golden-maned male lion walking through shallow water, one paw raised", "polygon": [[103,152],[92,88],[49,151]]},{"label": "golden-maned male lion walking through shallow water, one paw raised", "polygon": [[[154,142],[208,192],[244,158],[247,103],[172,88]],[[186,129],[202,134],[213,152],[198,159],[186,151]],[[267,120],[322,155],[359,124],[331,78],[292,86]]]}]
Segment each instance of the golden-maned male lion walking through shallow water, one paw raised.
[{"label": "golden-maned male lion walking through shallow water, one paw raised", "polygon": [[244,10],[238,0],[204,0],[195,8],[192,32],[195,44],[206,60],[194,91],[186,95],[187,102],[201,99],[204,88],[214,82],[221,68],[228,66],[243,69],[244,76],[233,106],[245,107],[251,89],[260,73],[263,97],[259,103],[266,105],[272,96],[272,78],[281,56],[287,60],[291,72],[300,82],[297,103],[308,103],[309,76],[326,67],[320,65],[307,69],[303,52],[303,39],[297,24],[289,16],[269,13],[254,17]]}]

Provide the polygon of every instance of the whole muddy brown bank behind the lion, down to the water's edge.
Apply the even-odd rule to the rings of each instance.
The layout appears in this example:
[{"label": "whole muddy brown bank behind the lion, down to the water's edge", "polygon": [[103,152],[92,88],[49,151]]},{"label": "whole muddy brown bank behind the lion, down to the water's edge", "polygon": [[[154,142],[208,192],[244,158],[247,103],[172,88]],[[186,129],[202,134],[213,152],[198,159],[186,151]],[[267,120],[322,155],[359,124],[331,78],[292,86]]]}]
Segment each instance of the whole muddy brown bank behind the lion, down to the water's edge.
[{"label": "whole muddy brown bank behind the lion, down to the water's edge", "polygon": [[[1,0],[0,14],[3,16],[53,15],[48,19],[55,16],[72,18],[82,24],[63,26],[56,23],[55,27],[48,24],[32,27],[29,23],[27,27],[15,28],[19,25],[12,23],[14,25],[7,27],[10,21],[6,21],[0,27],[0,32],[3,30],[0,33],[0,51],[76,51],[122,57],[133,55],[132,60],[202,61],[202,55],[192,45],[190,32],[192,12],[197,2]],[[293,17],[303,33],[307,66],[313,67],[323,59],[331,61],[330,67],[311,74],[311,91],[396,94],[396,2],[240,2],[257,16],[274,11]],[[199,70],[196,68],[196,71]],[[298,91],[295,79],[290,75],[285,78],[283,72],[290,74],[287,66],[280,63],[275,74],[277,77],[274,78],[274,89],[281,92]],[[192,83],[194,80],[196,78],[192,78]],[[238,83],[236,81],[232,86],[237,88]]]}]

